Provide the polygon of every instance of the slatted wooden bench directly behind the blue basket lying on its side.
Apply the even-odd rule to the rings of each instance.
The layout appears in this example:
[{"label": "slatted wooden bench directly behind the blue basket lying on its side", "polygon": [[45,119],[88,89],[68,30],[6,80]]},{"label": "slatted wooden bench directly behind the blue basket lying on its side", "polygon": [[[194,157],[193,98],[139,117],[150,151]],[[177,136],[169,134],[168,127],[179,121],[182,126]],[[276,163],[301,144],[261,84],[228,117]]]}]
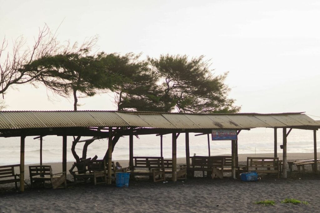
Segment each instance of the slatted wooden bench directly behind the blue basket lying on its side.
[{"label": "slatted wooden bench directly behind the blue basket lying on its side", "polygon": [[246,172],[255,171],[257,173],[275,173],[279,178],[279,158],[278,157],[248,157],[247,165],[239,165]]}]

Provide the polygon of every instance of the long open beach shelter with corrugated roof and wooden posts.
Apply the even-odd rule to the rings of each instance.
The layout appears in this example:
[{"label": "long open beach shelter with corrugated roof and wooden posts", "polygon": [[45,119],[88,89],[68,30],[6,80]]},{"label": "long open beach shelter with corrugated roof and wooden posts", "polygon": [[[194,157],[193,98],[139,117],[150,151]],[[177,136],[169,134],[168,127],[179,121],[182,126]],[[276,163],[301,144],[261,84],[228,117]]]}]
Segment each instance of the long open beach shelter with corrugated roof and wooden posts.
[{"label": "long open beach shelter with corrugated roof and wooden posts", "polygon": [[[283,128],[283,178],[286,174],[286,138],[295,129],[312,130],[316,157],[316,130],[319,122],[298,113],[234,113],[196,114],[137,111],[0,111],[0,136],[20,137],[20,191],[24,191],[24,147],[26,136],[62,136],[62,168],[66,168],[67,136],[91,136],[108,138],[108,148],[112,150],[114,134],[129,135],[130,162],[132,164],[133,135],[172,134],[172,180],[176,181],[177,137],[185,133],[186,159],[189,161],[189,133],[211,134],[212,130],[241,130],[257,127],[275,128],[275,156],[277,153],[276,128]],[[289,129],[289,131],[287,131]],[[232,177],[236,178],[237,140],[232,144]],[[0,144],[1,146],[1,144]],[[108,155],[111,166],[112,152]],[[315,168],[316,161],[315,161]],[[108,172],[111,169],[108,169]],[[108,174],[111,177],[111,174]],[[111,178],[108,180],[111,184]]]}]

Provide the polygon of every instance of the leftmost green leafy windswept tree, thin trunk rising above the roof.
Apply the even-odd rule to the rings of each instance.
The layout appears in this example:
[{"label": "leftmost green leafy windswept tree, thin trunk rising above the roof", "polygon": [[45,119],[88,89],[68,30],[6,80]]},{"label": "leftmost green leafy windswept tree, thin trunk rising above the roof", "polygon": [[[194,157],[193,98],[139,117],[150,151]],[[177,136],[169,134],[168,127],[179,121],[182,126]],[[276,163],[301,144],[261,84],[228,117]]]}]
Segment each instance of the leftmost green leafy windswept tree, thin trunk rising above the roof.
[{"label": "leftmost green leafy windswept tree, thin trunk rising above the roof", "polygon": [[93,96],[106,90],[113,90],[118,75],[108,71],[107,61],[117,57],[115,54],[88,55],[88,49],[76,53],[64,53],[37,60],[36,67],[49,66],[51,69],[37,79],[53,92],[69,97],[73,95],[74,110],[77,110],[77,92],[85,96]]}]

